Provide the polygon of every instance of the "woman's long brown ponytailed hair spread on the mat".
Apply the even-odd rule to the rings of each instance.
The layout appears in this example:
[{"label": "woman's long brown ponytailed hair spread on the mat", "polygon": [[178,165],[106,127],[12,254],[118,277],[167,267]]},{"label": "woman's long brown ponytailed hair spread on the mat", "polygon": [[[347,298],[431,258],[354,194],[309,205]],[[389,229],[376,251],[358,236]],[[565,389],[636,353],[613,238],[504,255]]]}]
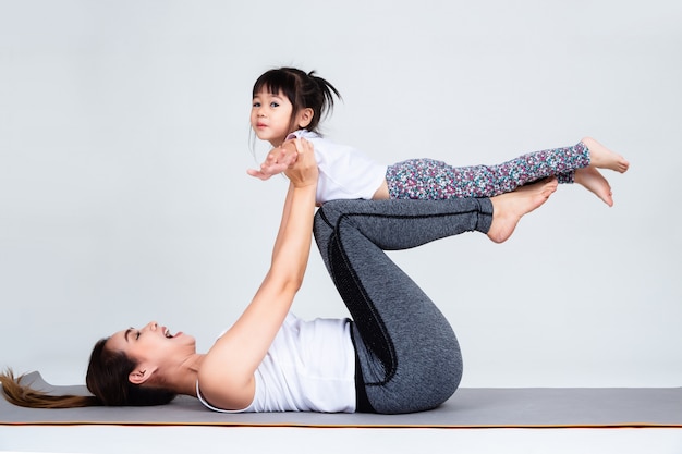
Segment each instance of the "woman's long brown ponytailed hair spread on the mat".
[{"label": "woman's long brown ponytailed hair spread on the mat", "polygon": [[52,395],[23,384],[24,376],[15,378],[12,370],[7,370],[0,373],[4,397],[31,408],[162,405],[175,397],[169,390],[131,383],[127,377],[135,363],[121,352],[106,348],[106,343],[107,339],[99,340],[90,355],[85,382],[93,395]]}]

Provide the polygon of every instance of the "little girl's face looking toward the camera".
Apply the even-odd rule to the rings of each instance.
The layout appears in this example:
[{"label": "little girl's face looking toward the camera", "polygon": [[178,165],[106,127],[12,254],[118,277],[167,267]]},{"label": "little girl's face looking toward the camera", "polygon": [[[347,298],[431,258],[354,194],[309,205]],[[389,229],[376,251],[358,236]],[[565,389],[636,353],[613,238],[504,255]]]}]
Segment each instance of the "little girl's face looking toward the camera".
[{"label": "little girl's face looking toward the camera", "polygon": [[291,133],[293,106],[281,91],[277,95],[258,93],[251,108],[251,127],[261,140],[279,147]]}]

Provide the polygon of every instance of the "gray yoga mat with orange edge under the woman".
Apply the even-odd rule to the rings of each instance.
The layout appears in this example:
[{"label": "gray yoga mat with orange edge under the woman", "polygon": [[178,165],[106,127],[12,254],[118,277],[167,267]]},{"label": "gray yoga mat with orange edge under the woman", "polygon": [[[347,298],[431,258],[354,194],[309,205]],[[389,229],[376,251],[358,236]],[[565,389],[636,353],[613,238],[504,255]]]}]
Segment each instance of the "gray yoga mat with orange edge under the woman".
[{"label": "gray yoga mat with orange edge under the woman", "polygon": [[[37,389],[87,394],[84,385]],[[156,407],[32,409],[0,398],[0,425],[562,428],[682,427],[682,388],[462,388],[440,407],[407,415],[220,414],[190,396]]]}]

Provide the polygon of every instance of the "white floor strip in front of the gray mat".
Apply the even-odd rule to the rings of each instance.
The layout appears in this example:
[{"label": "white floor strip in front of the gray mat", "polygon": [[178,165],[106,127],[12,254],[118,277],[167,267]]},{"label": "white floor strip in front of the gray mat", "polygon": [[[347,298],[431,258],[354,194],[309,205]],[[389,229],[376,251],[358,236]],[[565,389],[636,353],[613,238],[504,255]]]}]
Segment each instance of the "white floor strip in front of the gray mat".
[{"label": "white floor strip in front of the gray mat", "polygon": [[8,427],[0,453],[680,454],[682,429]]}]

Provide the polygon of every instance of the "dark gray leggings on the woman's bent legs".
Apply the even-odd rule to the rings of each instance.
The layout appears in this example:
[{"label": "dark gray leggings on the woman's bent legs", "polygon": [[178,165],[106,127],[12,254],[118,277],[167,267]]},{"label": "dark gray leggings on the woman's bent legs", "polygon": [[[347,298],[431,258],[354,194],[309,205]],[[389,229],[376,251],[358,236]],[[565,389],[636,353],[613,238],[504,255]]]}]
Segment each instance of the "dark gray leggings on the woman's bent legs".
[{"label": "dark gray leggings on the woman's bent legs", "polygon": [[450,323],[385,250],[486,233],[491,222],[487,198],[332,200],[319,208],[315,240],[353,318],[357,412],[434,408],[462,377]]}]

